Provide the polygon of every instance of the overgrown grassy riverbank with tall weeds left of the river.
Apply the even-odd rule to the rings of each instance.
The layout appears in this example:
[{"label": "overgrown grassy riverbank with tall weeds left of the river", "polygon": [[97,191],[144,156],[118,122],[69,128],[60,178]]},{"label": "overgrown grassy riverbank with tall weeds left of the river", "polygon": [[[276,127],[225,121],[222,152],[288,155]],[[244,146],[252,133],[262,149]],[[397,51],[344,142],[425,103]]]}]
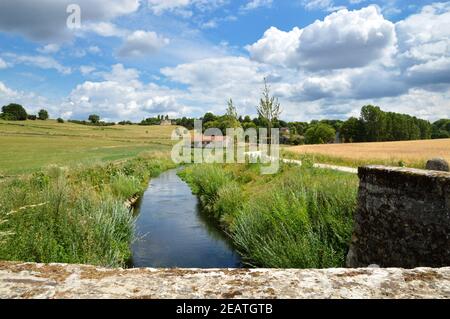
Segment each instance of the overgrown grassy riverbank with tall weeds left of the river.
[{"label": "overgrown grassy riverbank with tall weeds left of the river", "polygon": [[133,238],[124,202],[171,167],[166,153],[152,153],[2,181],[0,260],[124,266]]}]

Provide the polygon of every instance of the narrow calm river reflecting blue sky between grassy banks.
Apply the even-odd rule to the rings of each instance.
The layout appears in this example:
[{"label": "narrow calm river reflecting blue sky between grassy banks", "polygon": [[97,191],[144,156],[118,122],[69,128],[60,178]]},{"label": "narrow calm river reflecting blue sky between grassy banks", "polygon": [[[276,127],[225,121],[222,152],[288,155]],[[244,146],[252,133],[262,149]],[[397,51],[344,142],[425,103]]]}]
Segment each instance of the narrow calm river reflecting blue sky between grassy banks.
[{"label": "narrow calm river reflecting blue sky between grassy banks", "polygon": [[241,267],[229,239],[201,211],[177,170],[151,181],[136,214],[133,267]]}]

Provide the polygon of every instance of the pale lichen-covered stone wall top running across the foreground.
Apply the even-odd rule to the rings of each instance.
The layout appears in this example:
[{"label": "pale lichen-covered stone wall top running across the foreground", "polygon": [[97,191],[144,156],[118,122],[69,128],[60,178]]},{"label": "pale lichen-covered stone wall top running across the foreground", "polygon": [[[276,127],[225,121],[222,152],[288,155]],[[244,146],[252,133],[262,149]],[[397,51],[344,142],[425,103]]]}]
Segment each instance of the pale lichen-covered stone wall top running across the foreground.
[{"label": "pale lichen-covered stone wall top running across the foreground", "polygon": [[2,298],[450,298],[450,268],[104,269],[0,262]]}]

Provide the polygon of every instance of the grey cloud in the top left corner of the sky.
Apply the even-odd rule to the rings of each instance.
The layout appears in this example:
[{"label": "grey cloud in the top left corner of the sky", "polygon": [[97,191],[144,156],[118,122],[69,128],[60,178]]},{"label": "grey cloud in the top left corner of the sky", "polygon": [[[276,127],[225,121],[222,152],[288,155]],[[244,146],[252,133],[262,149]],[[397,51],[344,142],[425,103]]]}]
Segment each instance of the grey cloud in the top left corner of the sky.
[{"label": "grey cloud in the top left corner of the sky", "polygon": [[[42,42],[61,42],[73,36],[67,28],[67,6],[72,0],[2,0],[0,31]],[[82,23],[107,22],[135,12],[139,0],[78,0]]]}]

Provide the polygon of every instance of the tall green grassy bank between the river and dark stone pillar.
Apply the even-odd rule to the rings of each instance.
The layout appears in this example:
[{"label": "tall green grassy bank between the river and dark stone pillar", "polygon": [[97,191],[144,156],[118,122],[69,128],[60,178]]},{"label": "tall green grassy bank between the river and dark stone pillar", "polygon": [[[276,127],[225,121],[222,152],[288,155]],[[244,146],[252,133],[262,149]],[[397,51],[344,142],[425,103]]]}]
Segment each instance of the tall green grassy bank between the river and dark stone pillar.
[{"label": "tall green grassy bank between the river and dark stone pillar", "polygon": [[269,176],[258,165],[194,165],[181,176],[250,265],[344,266],[356,176],[290,165]]}]

